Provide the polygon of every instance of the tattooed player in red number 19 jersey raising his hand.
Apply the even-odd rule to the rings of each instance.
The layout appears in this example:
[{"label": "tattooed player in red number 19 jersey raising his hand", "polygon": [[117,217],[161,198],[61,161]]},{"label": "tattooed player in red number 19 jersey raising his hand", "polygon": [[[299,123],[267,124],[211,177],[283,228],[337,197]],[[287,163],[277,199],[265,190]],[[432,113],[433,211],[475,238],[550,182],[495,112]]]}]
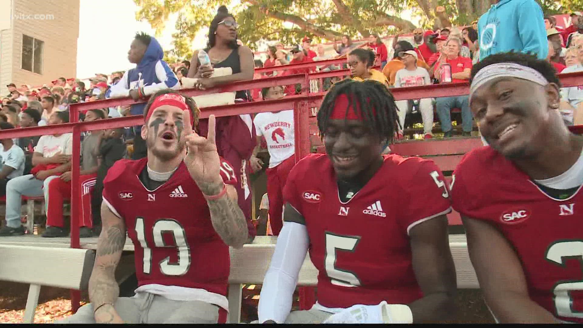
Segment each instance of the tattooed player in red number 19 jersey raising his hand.
[{"label": "tattooed player in red number 19 jersey raising his hand", "polygon": [[[215,117],[204,138],[192,131],[198,113],[192,98],[173,90],[150,97],[142,127],[147,157],[119,160],[108,171],[91,303],[64,322],[225,322],[229,246],[242,247],[248,230],[235,172],[217,153]],[[139,287],[134,297],[118,298],[114,272],[126,232]]]}]

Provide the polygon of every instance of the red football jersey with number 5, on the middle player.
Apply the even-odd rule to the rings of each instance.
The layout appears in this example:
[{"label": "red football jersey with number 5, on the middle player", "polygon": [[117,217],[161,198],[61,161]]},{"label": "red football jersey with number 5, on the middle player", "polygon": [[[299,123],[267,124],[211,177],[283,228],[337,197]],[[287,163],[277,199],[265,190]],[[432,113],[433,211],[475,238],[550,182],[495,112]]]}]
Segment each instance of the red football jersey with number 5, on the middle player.
[{"label": "red football jersey with number 5, on the middle player", "polygon": [[409,230],[451,211],[433,162],[385,155],[373,178],[342,203],[328,156],[312,154],[291,170],[283,194],[305,219],[320,305],[408,304],[422,297]]}]

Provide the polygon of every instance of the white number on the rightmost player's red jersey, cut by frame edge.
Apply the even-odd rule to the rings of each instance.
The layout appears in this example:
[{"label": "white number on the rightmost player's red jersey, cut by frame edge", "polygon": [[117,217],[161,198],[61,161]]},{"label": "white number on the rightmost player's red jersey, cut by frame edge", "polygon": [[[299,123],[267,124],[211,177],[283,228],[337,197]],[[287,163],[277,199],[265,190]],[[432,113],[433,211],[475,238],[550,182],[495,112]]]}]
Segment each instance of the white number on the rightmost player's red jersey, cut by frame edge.
[{"label": "white number on the rightmost player's red jersey, cut by frame edge", "polygon": [[[571,240],[554,243],[547,250],[546,258],[553,263],[564,266],[564,258],[583,260],[583,241]],[[583,318],[583,312],[573,310],[573,299],[571,291],[582,291],[583,281],[559,282],[554,285],[554,306],[557,309],[557,315],[563,317]]]}]

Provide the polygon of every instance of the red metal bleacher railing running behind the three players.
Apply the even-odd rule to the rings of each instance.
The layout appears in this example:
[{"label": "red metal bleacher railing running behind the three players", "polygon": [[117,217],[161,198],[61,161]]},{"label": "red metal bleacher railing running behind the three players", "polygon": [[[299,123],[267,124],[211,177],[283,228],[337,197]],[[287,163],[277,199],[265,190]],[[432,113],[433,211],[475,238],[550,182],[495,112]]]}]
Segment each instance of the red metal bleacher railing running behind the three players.
[{"label": "red metal bleacher railing running behind the three players", "polygon": [[[344,60],[345,61],[345,60]],[[324,61],[317,62],[322,65]],[[312,64],[312,63],[307,63]],[[304,64],[298,64],[304,65]],[[324,75],[322,72],[320,76]],[[343,72],[340,72],[343,74]],[[338,72],[336,72],[338,74]],[[318,75],[317,75],[318,76]],[[318,77],[320,77],[318,76]],[[335,75],[336,76],[336,75]],[[583,85],[583,72],[562,74],[559,75],[563,86],[578,86]],[[312,78],[314,75],[312,74]],[[309,85],[310,76],[306,74],[276,76],[275,78],[258,79],[254,81],[241,81],[231,83],[226,86],[218,86],[216,88],[205,91],[195,89],[184,89],[182,93],[188,96],[201,95],[203,93],[227,92],[242,89],[264,88],[275,85],[287,85],[300,83],[304,90],[303,95],[288,96],[279,100],[267,100],[263,102],[241,103],[226,106],[214,106],[202,109],[201,118],[206,118],[210,114],[215,114],[217,117],[231,116],[238,114],[262,113],[265,111],[276,110],[294,110],[294,128],[296,133],[296,160],[310,153],[310,132],[308,124],[309,109],[312,107],[319,107],[319,103],[324,96],[323,93],[316,95],[307,95],[307,88]],[[391,92],[394,94],[396,100],[415,99],[419,97],[443,97],[455,95],[467,95],[469,92],[468,83],[448,83],[443,85],[419,86],[412,88],[393,88]],[[142,100],[139,103],[143,103]],[[71,105],[71,123],[48,125],[44,127],[19,128],[13,130],[0,130],[0,139],[2,138],[21,138],[31,137],[35,135],[48,134],[62,134],[72,132],[73,134],[73,149],[72,149],[72,181],[71,194],[79,194],[79,168],[80,168],[80,133],[83,131],[103,130],[107,128],[128,127],[143,124],[142,116],[129,116],[120,118],[108,118],[106,120],[97,120],[92,122],[78,122],[79,111],[89,109],[101,109],[105,107],[114,107],[127,104],[134,104],[135,102],[129,98],[118,98],[100,100],[97,102],[79,103]],[[578,133],[583,132],[583,125],[571,127],[571,131]],[[79,248],[79,202],[77,197],[71,197],[71,247]],[[71,293],[73,310],[75,311],[79,306],[80,294],[73,291]]]}]

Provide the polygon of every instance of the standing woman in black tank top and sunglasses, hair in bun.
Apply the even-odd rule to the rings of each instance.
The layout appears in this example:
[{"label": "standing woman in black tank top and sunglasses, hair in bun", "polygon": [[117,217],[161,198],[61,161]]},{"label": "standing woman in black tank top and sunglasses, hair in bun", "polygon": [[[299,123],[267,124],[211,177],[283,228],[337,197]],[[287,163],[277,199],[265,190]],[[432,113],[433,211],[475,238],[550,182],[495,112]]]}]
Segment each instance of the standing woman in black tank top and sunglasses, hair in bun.
[{"label": "standing woman in black tank top and sunglasses, hair in bun", "polygon": [[[232,75],[208,78],[212,69],[202,67],[198,61],[198,51],[192,55],[191,67],[188,71],[189,78],[199,78],[199,83],[205,89],[226,83],[253,79],[254,62],[250,48],[237,44],[237,22],[227,8],[221,6],[219,12],[212,20],[209,27],[209,41],[205,48],[209,54],[213,68],[230,67]],[[248,100],[248,92],[237,92],[236,99]]]}]

